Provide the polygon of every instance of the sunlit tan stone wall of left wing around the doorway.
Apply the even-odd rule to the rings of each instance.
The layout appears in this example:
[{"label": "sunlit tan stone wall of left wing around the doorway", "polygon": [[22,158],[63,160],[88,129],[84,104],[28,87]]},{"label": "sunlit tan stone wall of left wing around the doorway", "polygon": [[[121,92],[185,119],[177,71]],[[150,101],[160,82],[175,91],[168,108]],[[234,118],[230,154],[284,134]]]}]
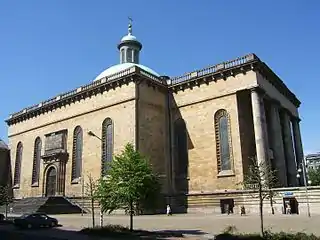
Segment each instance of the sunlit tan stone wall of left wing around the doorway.
[{"label": "sunlit tan stone wall of left wing around the doorway", "polygon": [[[98,94],[92,98],[80,100],[66,107],[44,113],[24,122],[9,126],[9,146],[11,165],[14,172],[15,154],[19,141],[23,143],[20,188],[15,189],[15,197],[41,196],[43,194],[43,162],[40,166],[39,187],[31,187],[32,161],[34,142],[41,137],[42,154],[44,151],[44,135],[68,130],[67,150],[69,159],[66,166],[65,194],[69,196],[81,194],[81,184],[71,184],[71,160],[73,131],[76,126],[83,129],[83,174],[89,173],[94,178],[100,176],[101,142],[90,137],[87,132],[93,131],[101,137],[102,122],[110,117],[114,124],[114,153],[123,150],[127,142],[135,143],[135,84],[123,85],[121,88]],[[86,180],[85,180],[86,181]]]}]

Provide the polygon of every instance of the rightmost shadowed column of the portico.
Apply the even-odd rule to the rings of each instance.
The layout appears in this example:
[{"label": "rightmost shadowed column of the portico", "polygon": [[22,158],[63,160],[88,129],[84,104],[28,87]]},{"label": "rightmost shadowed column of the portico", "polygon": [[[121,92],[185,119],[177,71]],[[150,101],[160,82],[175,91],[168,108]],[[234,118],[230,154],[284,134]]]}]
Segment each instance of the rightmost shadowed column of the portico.
[{"label": "rightmost shadowed column of the portico", "polygon": [[[296,153],[296,163],[297,168],[302,168],[302,161],[304,161],[303,156],[303,147],[302,147],[302,141],[301,141],[301,133],[300,133],[300,125],[299,125],[300,119],[299,118],[293,118],[292,119],[292,128],[293,128],[293,139],[294,139],[294,147],[295,147],[295,153]],[[300,177],[300,185],[304,185],[303,183],[303,173],[301,172]]]}]

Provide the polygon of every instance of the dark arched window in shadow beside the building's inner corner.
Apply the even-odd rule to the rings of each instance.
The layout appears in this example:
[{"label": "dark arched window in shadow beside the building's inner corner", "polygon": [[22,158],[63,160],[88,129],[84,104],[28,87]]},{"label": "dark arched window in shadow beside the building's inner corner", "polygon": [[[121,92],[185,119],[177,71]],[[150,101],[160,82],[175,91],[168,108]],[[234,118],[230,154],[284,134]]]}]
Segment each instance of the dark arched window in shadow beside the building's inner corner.
[{"label": "dark arched window in shadow beside the building's inner corner", "polygon": [[174,122],[175,176],[188,175],[188,134],[186,123],[182,118]]}]

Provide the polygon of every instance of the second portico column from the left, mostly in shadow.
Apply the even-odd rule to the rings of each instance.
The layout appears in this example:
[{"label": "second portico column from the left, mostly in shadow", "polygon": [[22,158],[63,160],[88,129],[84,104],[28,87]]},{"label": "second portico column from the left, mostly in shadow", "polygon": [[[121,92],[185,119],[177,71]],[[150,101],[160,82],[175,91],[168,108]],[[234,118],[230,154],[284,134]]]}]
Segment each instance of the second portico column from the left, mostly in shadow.
[{"label": "second portico column from the left, mostly in shadow", "polygon": [[274,156],[274,166],[277,171],[279,185],[286,187],[287,183],[287,167],[283,147],[283,138],[281,131],[281,122],[279,114],[279,103],[272,101],[270,105],[270,123],[271,123],[271,148]]}]

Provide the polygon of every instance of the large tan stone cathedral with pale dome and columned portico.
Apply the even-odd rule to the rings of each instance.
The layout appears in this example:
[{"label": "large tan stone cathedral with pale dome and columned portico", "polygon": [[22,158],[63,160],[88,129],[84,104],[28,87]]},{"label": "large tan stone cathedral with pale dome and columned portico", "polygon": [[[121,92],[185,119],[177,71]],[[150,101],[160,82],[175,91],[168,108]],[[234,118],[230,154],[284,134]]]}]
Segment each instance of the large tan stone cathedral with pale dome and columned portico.
[{"label": "large tan stone cathedral with pale dome and columned portico", "polygon": [[131,25],[118,49],[94,81],[7,119],[16,198],[80,196],[127,142],[168,196],[237,190],[253,156],[299,185],[300,101],[255,54],[167,77],[139,63]]}]

